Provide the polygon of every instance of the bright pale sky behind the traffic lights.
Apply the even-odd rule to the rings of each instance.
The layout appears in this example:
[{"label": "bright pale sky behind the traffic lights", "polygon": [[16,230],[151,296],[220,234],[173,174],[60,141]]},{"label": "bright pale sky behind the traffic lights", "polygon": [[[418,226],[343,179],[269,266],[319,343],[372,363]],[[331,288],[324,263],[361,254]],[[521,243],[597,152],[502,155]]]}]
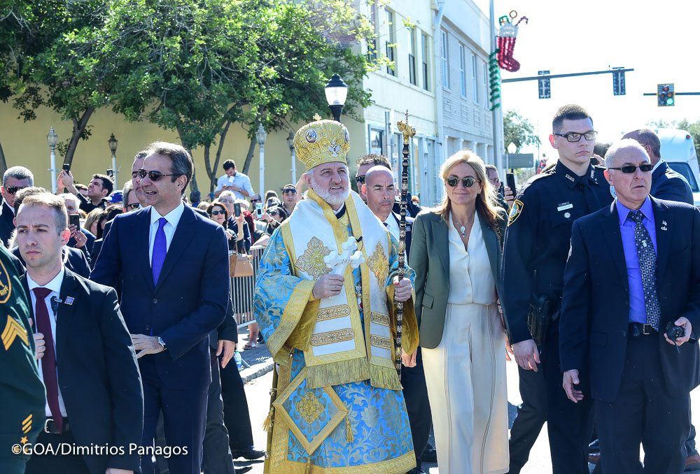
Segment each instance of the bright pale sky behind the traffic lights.
[{"label": "bright pale sky behind the traffic lights", "polygon": [[[448,0],[449,1],[449,0]],[[487,0],[476,0],[486,14]],[[577,73],[624,66],[626,95],[612,95],[612,75],[553,79],[551,99],[538,99],[536,81],[512,82],[501,88],[504,110],[515,109],[537,129],[545,145],[552,115],[566,103],[589,110],[599,139],[620,134],[650,120],[700,120],[700,96],[678,96],[674,107],[659,108],[657,83],[673,82],[676,92],[700,92],[700,1],[638,2],[589,0],[495,0],[496,18],[517,10],[521,22],[513,57],[517,73],[501,70],[502,78],[536,76],[537,71]]]}]

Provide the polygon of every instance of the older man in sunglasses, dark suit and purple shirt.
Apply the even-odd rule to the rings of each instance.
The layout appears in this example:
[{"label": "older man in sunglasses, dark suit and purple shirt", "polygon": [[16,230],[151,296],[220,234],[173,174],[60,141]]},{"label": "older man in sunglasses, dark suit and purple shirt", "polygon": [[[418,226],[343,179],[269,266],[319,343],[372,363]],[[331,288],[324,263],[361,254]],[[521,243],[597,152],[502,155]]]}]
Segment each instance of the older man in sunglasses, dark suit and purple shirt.
[{"label": "older man in sunglasses, dark suit and purple shirt", "polygon": [[[649,196],[653,165],[636,141],[612,145],[605,163],[615,202],[572,228],[559,323],[563,387],[580,403],[580,372],[589,374],[603,473],[681,473],[689,392],[700,377],[689,342],[700,325],[700,213]],[[594,244],[601,236],[605,245]],[[675,343],[666,335],[673,326]]]}]

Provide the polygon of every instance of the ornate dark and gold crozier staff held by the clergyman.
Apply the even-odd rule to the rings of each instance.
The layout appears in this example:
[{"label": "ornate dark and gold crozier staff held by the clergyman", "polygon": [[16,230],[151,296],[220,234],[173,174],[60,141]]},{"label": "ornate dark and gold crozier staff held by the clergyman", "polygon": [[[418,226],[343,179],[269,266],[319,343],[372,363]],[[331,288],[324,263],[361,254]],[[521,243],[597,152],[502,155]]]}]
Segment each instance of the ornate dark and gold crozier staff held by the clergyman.
[{"label": "ornate dark and gold crozier staff held by the clergyman", "polygon": [[[399,239],[398,239],[398,280],[403,279],[403,273],[406,268],[405,262],[405,250],[406,250],[406,208],[408,206],[407,196],[408,196],[408,158],[409,158],[409,145],[411,144],[411,138],[416,134],[416,129],[412,128],[408,124],[408,110],[406,110],[406,121],[400,120],[396,126],[398,130],[403,135],[403,150],[401,159],[401,202],[400,202],[400,214],[401,220],[399,221]],[[401,338],[403,329],[403,302],[395,301],[396,305],[396,338],[394,340],[394,348],[396,351],[396,372],[398,372],[399,378],[401,378]]]}]

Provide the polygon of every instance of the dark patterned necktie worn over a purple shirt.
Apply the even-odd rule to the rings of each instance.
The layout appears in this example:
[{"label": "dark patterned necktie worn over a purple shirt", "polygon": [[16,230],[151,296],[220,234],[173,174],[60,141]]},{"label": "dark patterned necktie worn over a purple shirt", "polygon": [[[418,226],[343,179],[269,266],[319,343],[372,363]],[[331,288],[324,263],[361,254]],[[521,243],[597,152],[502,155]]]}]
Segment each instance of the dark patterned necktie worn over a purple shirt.
[{"label": "dark patterned necktie worn over a purple shirt", "polygon": [[644,289],[644,306],[647,310],[647,324],[651,324],[659,331],[659,295],[657,294],[656,280],[656,253],[654,244],[649,236],[647,228],[642,224],[644,215],[639,210],[628,214],[628,217],[636,222],[634,225],[634,243],[637,246],[639,270],[642,273],[642,287]]}]

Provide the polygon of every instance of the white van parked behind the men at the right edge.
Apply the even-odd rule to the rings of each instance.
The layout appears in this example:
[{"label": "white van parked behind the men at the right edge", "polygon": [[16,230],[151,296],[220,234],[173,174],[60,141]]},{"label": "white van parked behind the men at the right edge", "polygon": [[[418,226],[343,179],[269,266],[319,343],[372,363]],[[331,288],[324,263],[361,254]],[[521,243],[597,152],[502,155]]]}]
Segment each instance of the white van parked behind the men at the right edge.
[{"label": "white van parked behind the men at the right edge", "polygon": [[695,206],[700,206],[700,168],[693,137],[685,130],[655,129],[661,140],[661,158],[688,181]]}]

